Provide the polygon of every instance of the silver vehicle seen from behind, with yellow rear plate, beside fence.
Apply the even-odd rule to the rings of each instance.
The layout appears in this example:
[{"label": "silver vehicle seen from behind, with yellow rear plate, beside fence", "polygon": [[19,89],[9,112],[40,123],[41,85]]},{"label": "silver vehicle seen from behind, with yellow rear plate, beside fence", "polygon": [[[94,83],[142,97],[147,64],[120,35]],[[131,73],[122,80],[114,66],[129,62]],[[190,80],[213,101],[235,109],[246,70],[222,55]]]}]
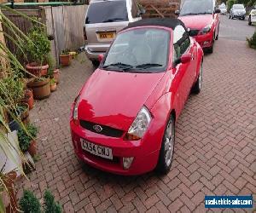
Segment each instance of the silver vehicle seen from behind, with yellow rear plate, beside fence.
[{"label": "silver vehicle seen from behind, with yellow rear plate, beside fence", "polygon": [[141,20],[143,9],[136,0],[91,0],[85,14],[85,53],[92,63],[98,64],[98,56],[104,54],[114,37],[130,22]]}]

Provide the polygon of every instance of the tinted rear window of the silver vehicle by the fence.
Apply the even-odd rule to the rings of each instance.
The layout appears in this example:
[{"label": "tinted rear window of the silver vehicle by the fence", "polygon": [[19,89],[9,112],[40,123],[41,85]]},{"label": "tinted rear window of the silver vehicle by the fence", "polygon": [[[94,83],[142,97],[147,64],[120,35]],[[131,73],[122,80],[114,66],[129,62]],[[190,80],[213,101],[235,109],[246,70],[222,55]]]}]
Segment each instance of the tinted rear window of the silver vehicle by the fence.
[{"label": "tinted rear window of the silver vehicle by the fence", "polygon": [[105,1],[91,3],[85,24],[127,21],[126,1]]}]

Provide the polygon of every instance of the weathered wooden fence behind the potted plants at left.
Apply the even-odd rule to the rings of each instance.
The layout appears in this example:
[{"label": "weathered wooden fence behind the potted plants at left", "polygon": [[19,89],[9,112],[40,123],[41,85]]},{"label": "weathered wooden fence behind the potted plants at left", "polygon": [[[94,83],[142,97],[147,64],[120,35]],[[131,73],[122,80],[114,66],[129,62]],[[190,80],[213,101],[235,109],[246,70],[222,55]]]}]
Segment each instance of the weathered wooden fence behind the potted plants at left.
[{"label": "weathered wooden fence behind the potted plants at left", "polygon": [[[47,26],[47,33],[55,39],[51,41],[51,53],[59,64],[59,55],[64,49],[79,49],[84,45],[84,18],[87,5],[41,7],[38,9],[19,9],[20,12],[41,20]],[[4,11],[4,14],[12,20],[22,32],[27,34],[31,27],[31,20],[23,18],[19,14]],[[5,27],[4,32],[9,32]],[[13,53],[17,53],[14,43],[6,37],[6,43]],[[24,62],[24,61],[21,61]]]}]

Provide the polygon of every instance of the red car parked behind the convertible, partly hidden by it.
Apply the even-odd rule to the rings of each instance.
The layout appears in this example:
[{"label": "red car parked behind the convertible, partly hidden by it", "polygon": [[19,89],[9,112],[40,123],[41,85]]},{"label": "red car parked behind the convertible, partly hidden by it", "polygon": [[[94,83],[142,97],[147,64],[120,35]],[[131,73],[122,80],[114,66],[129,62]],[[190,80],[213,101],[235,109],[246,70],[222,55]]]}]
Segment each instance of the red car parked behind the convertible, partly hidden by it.
[{"label": "red car parked behind the convertible, partly hidden by it", "polygon": [[209,53],[218,40],[219,13],[215,0],[185,0],[181,11],[176,11],[178,19],[189,28],[189,35]]}]

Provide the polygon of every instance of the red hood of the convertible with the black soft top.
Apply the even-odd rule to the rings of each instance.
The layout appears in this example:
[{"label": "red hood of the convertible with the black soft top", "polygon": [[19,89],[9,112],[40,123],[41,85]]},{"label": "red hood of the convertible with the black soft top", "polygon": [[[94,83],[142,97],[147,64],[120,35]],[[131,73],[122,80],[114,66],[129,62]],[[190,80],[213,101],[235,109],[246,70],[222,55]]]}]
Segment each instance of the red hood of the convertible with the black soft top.
[{"label": "red hood of the convertible with the black soft top", "polygon": [[129,130],[164,75],[97,69],[80,92],[79,119]]}]

